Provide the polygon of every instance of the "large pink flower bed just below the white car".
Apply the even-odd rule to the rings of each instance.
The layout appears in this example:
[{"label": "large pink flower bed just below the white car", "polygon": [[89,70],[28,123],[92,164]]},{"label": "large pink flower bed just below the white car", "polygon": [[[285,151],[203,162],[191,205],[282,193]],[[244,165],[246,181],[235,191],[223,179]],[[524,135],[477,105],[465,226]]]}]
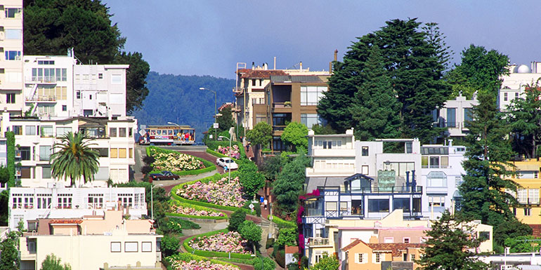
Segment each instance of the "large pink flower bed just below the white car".
[{"label": "large pink flower bed just below the white car", "polygon": [[233,207],[242,207],[246,201],[242,198],[239,177],[231,180],[228,177],[223,177],[221,180],[206,184],[198,181],[185,185],[182,189],[177,189],[176,195],[188,200]]}]

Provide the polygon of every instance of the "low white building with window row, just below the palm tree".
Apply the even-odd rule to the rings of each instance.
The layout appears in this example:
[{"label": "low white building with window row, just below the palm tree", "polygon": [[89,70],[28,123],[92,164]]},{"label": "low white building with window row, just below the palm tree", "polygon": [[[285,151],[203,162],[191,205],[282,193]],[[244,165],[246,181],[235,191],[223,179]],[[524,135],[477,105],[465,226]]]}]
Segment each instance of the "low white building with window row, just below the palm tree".
[{"label": "low white building with window row, just below the palm tree", "polygon": [[28,231],[37,231],[39,219],[71,219],[105,215],[106,210],[122,211],[131,219],[147,215],[144,187],[11,187],[9,189],[10,229],[22,221]]}]

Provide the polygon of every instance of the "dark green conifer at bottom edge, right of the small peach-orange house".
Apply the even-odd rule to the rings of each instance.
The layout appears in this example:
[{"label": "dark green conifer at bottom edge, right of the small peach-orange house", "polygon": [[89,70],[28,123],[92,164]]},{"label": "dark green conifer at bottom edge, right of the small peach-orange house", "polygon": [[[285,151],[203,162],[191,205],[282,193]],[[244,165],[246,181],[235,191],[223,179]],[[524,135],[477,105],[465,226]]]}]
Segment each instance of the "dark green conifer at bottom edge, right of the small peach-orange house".
[{"label": "dark green conifer at bottom edge, right of the small peach-orange house", "polygon": [[469,251],[477,248],[481,241],[470,237],[467,231],[473,231],[461,217],[455,218],[445,210],[439,220],[435,220],[431,230],[426,231],[429,236],[424,255],[417,260],[417,264],[426,270],[456,270],[456,269],[488,269],[488,265],[474,257]]}]

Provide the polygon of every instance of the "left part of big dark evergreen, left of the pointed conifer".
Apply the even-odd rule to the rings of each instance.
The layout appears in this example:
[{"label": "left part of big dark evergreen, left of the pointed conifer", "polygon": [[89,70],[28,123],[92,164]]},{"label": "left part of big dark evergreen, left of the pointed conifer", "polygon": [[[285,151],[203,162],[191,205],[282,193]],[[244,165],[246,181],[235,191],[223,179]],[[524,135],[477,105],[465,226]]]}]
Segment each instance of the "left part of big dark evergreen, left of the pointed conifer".
[{"label": "left part of big dark evergreen, left of the pointed conifer", "polygon": [[348,48],[344,62],[333,62],[333,74],[328,81],[329,90],[323,93],[318,104],[318,114],[338,133],[344,133],[353,126],[349,107],[357,87],[366,78],[361,71],[365,68],[368,50],[376,39],[374,34],[360,37],[358,42]]}]

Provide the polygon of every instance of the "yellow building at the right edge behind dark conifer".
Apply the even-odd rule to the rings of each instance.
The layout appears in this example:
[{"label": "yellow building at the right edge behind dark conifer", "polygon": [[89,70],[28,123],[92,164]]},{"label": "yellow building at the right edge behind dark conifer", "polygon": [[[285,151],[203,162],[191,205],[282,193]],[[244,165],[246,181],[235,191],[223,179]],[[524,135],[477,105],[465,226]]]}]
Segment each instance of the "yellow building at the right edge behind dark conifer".
[{"label": "yellow building at the right edge behind dark conifer", "polygon": [[534,235],[539,236],[541,232],[541,205],[540,189],[541,179],[539,178],[541,161],[537,159],[526,159],[524,161],[513,161],[515,175],[511,178],[519,188],[516,190],[516,199],[520,207],[514,209],[516,218],[521,222],[530,225],[534,229]]}]

